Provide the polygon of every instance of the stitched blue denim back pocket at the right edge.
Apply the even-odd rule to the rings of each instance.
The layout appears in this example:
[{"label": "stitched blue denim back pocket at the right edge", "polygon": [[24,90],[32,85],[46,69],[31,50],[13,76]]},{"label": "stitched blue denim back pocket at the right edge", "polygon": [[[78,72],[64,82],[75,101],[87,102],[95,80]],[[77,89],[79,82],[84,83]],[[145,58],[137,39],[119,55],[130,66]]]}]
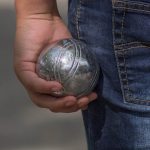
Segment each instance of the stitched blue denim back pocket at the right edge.
[{"label": "stitched blue denim back pocket at the right edge", "polygon": [[150,3],[113,0],[113,40],[124,102],[150,106]]}]

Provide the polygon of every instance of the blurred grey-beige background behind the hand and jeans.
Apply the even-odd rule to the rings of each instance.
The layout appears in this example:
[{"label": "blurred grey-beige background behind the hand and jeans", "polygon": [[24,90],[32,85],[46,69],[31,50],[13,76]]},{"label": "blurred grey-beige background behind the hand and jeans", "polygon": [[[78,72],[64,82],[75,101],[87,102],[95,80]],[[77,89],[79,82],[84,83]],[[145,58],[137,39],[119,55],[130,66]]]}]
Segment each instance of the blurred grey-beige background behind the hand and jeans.
[{"label": "blurred grey-beige background behind the hand and jeans", "polygon": [[[58,0],[67,23],[67,0]],[[61,7],[60,7],[61,6]],[[0,150],[86,150],[81,112],[36,107],[13,72],[13,0],[0,0]]]}]

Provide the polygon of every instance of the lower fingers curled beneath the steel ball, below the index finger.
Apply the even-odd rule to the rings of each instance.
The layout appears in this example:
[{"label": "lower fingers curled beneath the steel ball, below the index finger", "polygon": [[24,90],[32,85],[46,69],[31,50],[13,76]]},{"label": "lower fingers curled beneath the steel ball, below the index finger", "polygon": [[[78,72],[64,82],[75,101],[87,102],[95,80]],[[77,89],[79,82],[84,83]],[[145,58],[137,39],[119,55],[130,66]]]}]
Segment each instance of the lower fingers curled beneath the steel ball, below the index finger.
[{"label": "lower fingers curled beneath the steel ball, below the index finger", "polygon": [[50,95],[30,93],[32,101],[39,107],[48,108],[52,112],[76,112],[78,110],[85,110],[88,104],[93,101],[97,95],[91,93],[88,96],[77,99],[74,96],[66,96],[62,98],[55,98]]}]

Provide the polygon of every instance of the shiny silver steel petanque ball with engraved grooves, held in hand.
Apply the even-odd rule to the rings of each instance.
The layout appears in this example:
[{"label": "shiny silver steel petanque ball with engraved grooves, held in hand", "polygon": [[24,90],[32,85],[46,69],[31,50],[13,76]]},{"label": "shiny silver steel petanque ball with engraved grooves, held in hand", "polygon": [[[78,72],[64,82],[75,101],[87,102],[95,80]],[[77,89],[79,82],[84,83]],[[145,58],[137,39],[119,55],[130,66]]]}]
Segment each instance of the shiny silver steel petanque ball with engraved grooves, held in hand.
[{"label": "shiny silver steel petanque ball with engraved grooves, held in hand", "polygon": [[100,69],[95,54],[86,44],[75,39],[64,39],[41,52],[36,72],[45,80],[62,84],[62,90],[51,92],[51,95],[81,97],[93,91]]}]

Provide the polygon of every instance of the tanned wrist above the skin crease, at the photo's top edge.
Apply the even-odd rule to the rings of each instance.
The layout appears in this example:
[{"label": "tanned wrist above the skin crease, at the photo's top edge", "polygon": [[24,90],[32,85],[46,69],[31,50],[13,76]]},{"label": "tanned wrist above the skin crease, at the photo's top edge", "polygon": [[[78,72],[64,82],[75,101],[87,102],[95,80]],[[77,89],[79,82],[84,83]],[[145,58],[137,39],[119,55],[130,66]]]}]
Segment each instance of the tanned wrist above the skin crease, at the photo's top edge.
[{"label": "tanned wrist above the skin crease, at the photo's top edge", "polygon": [[56,0],[16,0],[15,6],[17,19],[44,17],[53,20],[60,17]]}]

